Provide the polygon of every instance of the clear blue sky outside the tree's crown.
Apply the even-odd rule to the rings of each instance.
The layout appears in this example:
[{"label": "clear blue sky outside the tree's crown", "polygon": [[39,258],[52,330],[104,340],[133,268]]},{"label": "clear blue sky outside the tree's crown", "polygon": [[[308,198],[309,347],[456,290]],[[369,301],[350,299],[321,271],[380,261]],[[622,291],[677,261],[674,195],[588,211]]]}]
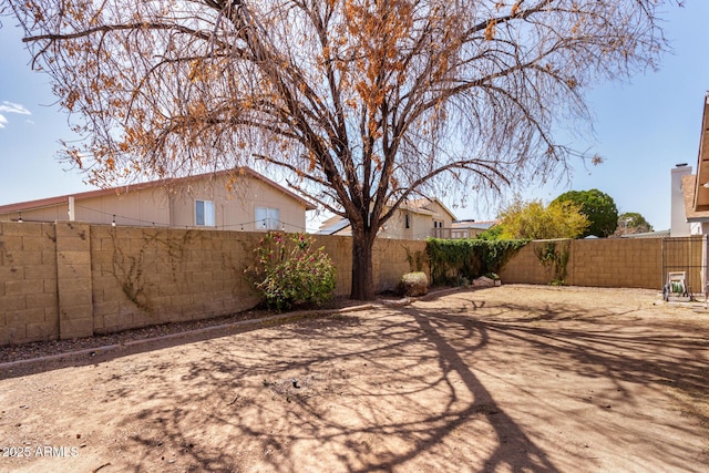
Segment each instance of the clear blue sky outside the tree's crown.
[{"label": "clear blue sky outside the tree's crown", "polygon": [[[668,9],[672,53],[658,72],[625,84],[603,84],[589,97],[596,140],[573,143],[605,158],[585,168],[572,163],[571,184],[530,186],[523,198],[552,200],[561,193],[598,188],[620,212],[639,212],[655,229],[669,228],[670,169],[696,167],[705,93],[709,90],[709,1]],[[75,136],[55,105],[49,78],[30,70],[22,32],[8,19],[0,29],[0,205],[90,191],[82,176],[56,161],[59,140]],[[474,200],[475,196],[470,196]],[[485,209],[486,208],[486,209]],[[496,206],[454,209],[459,218],[493,218]]]}]

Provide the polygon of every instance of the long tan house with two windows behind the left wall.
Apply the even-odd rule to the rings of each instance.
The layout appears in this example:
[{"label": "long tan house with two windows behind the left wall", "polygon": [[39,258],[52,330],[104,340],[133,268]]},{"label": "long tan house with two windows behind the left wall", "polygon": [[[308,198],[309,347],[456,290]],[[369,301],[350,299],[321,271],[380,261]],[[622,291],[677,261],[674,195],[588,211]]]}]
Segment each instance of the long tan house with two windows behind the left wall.
[{"label": "long tan house with two windows behind the left wall", "polygon": [[0,222],[305,232],[315,206],[248,167],[0,206]]}]

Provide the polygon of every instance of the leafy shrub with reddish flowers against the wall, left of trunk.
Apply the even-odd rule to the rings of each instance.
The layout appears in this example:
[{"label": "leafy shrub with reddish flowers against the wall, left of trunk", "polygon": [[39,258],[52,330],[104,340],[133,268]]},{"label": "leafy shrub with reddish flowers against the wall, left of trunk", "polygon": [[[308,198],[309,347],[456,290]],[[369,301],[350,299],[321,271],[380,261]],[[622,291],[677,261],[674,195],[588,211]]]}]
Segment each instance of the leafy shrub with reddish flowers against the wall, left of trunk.
[{"label": "leafy shrub with reddish flowers against the wall, left of trunk", "polygon": [[254,250],[256,264],[246,269],[247,278],[266,306],[287,310],[295,304],[322,304],[332,298],[337,276],[322,247],[312,248],[306,234],[267,234]]}]

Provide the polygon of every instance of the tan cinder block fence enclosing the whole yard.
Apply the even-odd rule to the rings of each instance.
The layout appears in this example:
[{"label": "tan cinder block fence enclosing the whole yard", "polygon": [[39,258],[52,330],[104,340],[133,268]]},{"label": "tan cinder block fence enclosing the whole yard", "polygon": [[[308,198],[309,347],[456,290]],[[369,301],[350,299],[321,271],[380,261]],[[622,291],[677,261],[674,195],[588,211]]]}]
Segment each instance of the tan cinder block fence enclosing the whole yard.
[{"label": "tan cinder block fence enclosing the whole yard", "polygon": [[[112,227],[78,222],[0,223],[0,345],[68,339],[249,309],[244,279],[261,233]],[[351,284],[351,238],[317,236]],[[661,239],[567,240],[566,282],[661,287]],[[533,241],[506,265],[504,282],[548,284]],[[376,289],[393,289],[425,241],[374,245]],[[701,259],[701,255],[693,256]]]}]

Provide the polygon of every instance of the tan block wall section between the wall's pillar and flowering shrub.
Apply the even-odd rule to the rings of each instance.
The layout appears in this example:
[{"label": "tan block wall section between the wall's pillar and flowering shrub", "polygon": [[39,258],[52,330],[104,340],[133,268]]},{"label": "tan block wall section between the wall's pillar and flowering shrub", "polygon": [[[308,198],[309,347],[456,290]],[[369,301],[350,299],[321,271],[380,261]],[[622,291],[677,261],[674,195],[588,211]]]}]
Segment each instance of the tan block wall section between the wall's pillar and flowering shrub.
[{"label": "tan block wall section between the wall's pillar and flowering shrub", "polygon": [[94,332],[254,307],[258,298],[243,271],[261,235],[93,226]]}]

